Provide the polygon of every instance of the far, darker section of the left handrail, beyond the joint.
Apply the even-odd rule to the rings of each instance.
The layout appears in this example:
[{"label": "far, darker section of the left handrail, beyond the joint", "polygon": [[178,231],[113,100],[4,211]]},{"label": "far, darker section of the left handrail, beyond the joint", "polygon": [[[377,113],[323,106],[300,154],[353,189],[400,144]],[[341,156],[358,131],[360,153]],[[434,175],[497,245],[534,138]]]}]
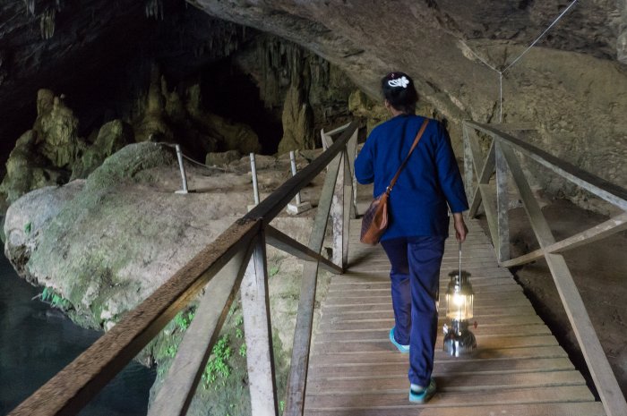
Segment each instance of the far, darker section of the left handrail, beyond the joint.
[{"label": "far, darker section of the left handrail, beyond the joint", "polygon": [[[335,140],[331,147],[324,151],[322,155],[316,157],[309,165],[300,170],[296,176],[292,176],[285,183],[279,186],[279,189],[262,200],[255,208],[244,216],[247,219],[263,219],[263,223],[270,224],[271,220],[279,214],[288,205],[298,191],[303,189],[307,184],[322,172],[322,170],[331,163],[334,157],[341,153],[348,140],[350,140],[353,132],[359,126],[358,122],[348,125],[348,128],[342,132],[338,140]],[[328,133],[327,133],[328,134]]]}]

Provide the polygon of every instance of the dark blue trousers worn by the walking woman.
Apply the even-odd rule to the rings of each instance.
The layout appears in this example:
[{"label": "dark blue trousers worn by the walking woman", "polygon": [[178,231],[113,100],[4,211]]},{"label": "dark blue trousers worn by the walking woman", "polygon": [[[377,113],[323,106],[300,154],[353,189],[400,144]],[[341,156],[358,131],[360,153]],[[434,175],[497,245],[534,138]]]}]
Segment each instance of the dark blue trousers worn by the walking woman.
[{"label": "dark blue trousers worn by the walking woman", "polygon": [[409,382],[428,386],[434,369],[445,237],[402,237],[381,242],[391,262],[391,299],[399,344],[409,347]]}]

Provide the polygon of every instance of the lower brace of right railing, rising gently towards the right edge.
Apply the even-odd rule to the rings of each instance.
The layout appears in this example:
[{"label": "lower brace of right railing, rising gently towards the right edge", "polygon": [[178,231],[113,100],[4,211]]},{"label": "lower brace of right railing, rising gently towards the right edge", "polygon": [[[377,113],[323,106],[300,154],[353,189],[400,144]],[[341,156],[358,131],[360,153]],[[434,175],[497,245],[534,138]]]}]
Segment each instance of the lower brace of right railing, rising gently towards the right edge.
[{"label": "lower brace of right railing, rising gently towards the right edge", "polygon": [[614,218],[610,218],[604,223],[588,228],[588,230],[576,233],[560,242],[555,242],[546,246],[545,249],[533,250],[527,254],[517,257],[516,259],[503,261],[500,263],[500,266],[520,266],[530,261],[541,259],[545,254],[561,253],[567,250],[575,249],[590,242],[597,242],[598,240],[609,237],[615,233],[620,233],[624,230],[627,230],[627,212],[614,216]]}]

